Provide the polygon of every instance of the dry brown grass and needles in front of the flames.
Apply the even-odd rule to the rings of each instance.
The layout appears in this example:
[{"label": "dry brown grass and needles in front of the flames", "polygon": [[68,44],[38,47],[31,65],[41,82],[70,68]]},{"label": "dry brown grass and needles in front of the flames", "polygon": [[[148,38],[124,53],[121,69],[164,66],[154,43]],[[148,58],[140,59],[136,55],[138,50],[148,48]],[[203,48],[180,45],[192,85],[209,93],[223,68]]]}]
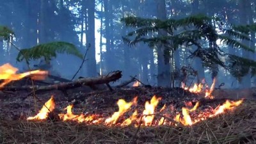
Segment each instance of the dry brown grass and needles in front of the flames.
[{"label": "dry brown grass and needles in front of the flames", "polygon": [[106,127],[72,122],[0,120],[1,143],[256,143],[256,105],[191,127]]}]

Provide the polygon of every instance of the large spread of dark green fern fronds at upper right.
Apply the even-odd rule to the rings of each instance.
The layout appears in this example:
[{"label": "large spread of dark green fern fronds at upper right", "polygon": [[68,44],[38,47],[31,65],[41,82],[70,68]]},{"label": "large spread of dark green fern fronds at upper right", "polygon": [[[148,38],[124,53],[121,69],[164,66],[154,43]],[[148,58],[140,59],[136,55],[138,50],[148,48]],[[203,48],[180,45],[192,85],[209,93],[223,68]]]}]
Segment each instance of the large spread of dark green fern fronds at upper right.
[{"label": "large spread of dark green fern fronds at upper right", "polygon": [[[220,40],[229,47],[254,52],[254,49],[241,42],[250,40],[249,34],[256,31],[256,24],[225,28],[225,23],[218,17],[206,17],[205,15],[193,15],[178,20],[125,17],[122,21],[125,22],[126,26],[135,29],[123,37],[124,42],[128,45],[144,42],[150,47],[156,47],[158,44],[164,44],[165,51],[175,51],[180,46],[190,47],[195,45],[197,49],[191,52],[189,58],[199,57],[204,66],[212,71],[212,76],[218,74],[218,65],[230,70],[230,74],[237,77],[237,79],[245,76],[244,74],[248,73],[250,68],[252,72],[256,72],[256,69],[250,66],[254,61],[246,61],[247,59],[229,55],[229,61],[232,61],[232,63],[236,61],[236,67],[230,67],[230,63],[227,64],[221,60],[228,54],[221,51],[216,44],[216,41]],[[220,30],[217,31],[216,29]],[[203,47],[202,45],[205,43],[209,46]],[[239,72],[236,73],[236,70]]]}]

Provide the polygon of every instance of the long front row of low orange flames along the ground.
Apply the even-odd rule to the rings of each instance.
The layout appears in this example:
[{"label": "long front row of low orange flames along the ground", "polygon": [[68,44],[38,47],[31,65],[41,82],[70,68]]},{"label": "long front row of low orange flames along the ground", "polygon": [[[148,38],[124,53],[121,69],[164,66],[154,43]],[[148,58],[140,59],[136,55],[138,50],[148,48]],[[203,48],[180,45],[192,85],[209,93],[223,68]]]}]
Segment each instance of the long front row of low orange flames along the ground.
[{"label": "long front row of low orange flames along the ground", "polygon": [[[101,115],[74,115],[72,113],[73,106],[67,106],[65,110],[67,110],[66,114],[59,114],[61,120],[63,121],[73,121],[73,122],[84,122],[86,124],[104,124],[104,125],[120,125],[120,126],[127,126],[127,125],[144,125],[144,126],[150,126],[150,125],[193,125],[200,121],[207,120],[207,118],[212,118],[214,116],[220,115],[222,113],[225,113],[227,110],[232,110],[236,108],[237,106],[241,105],[243,100],[237,100],[237,101],[230,101],[227,100],[225,103],[217,106],[216,108],[211,109],[199,109],[200,102],[196,102],[195,106],[193,108],[182,108],[182,111],[177,111],[176,115],[170,115],[170,113],[166,112],[163,113],[163,111],[168,109],[170,107],[163,106],[163,108],[160,109],[159,112],[157,112],[157,104],[161,100],[161,97],[152,97],[152,99],[145,102],[145,109],[142,111],[141,114],[139,114],[138,111],[141,111],[141,109],[136,109],[137,104],[137,97],[135,97],[131,102],[125,102],[124,99],[120,99],[117,102],[119,110],[113,113],[112,116],[104,117]],[[47,107],[47,108],[46,108]],[[45,120],[47,119],[47,116],[49,113],[51,113],[54,110],[55,104],[54,99],[51,97],[47,102],[45,102],[45,105],[40,110],[38,115],[31,116],[27,118],[27,120]],[[132,115],[128,116],[128,118],[124,119],[127,115],[128,111],[134,111]],[[158,115],[157,113],[163,113],[162,115]]]}]

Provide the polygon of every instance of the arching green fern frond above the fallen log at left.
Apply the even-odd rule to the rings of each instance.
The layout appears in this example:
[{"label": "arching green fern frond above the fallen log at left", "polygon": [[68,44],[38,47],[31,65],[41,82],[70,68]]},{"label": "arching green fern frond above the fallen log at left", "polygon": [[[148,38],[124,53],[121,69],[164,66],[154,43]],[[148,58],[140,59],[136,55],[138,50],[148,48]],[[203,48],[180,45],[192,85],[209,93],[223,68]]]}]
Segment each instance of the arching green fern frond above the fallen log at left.
[{"label": "arching green fern frond above the fallen log at left", "polygon": [[20,50],[16,60],[38,60],[39,58],[44,57],[46,61],[51,60],[52,57],[56,57],[56,53],[67,53],[73,54],[81,59],[83,59],[83,54],[81,54],[75,45],[68,42],[50,42],[47,44],[36,45],[29,49]]}]

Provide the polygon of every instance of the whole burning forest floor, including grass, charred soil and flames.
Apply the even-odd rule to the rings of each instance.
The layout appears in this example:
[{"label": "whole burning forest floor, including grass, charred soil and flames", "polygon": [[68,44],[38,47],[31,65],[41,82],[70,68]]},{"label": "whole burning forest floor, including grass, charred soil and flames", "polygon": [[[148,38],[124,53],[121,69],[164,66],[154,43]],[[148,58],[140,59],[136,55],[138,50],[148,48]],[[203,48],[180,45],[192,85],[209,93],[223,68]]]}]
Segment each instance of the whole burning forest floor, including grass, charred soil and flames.
[{"label": "whole burning forest floor, including grass, charred soil and flames", "polygon": [[2,93],[0,141],[255,143],[256,102],[209,99],[213,87],[197,84],[194,90],[184,90],[185,86],[145,88],[137,84],[113,92],[70,90],[68,96],[42,92],[36,100],[22,92]]}]

